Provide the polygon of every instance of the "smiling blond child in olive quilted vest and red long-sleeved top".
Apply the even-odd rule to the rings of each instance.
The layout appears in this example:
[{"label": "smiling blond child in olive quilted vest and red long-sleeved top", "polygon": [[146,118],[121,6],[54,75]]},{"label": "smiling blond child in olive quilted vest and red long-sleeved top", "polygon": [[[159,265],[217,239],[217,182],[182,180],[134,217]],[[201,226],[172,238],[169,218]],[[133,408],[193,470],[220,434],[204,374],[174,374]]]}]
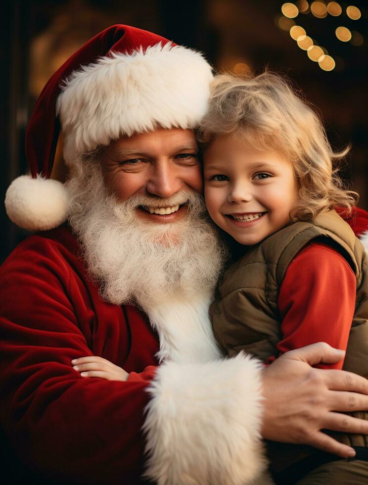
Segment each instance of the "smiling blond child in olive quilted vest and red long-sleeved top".
[{"label": "smiling blond child in olive quilted vest and red long-sleeved top", "polygon": [[[218,76],[199,140],[208,212],[247,246],[210,308],[224,354],[244,350],[268,364],[325,341],[347,349],[344,369],[367,377],[367,258],[334,210],[350,213],[356,196],[332,168],[347,150],[333,153],[313,110],[270,73]],[[276,443],[277,483],[368,483],[366,437],[334,437],[355,447],[356,461]]]}]

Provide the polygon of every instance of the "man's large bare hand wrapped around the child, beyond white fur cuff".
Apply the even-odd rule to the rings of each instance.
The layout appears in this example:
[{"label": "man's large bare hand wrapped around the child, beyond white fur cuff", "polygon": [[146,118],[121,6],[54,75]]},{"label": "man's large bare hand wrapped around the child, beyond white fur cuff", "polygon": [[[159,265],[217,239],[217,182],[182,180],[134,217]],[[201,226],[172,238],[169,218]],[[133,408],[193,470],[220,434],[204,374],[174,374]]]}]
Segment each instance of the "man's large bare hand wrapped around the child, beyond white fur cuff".
[{"label": "man's large bare hand wrapped around the child, beyond white fur cuff", "polygon": [[311,367],[339,362],[344,355],[319,342],[286,352],[262,371],[264,438],[309,444],[343,458],[355,455],[353,448],[321,430],[368,434],[368,421],[340,414],[368,410],[368,380]]}]

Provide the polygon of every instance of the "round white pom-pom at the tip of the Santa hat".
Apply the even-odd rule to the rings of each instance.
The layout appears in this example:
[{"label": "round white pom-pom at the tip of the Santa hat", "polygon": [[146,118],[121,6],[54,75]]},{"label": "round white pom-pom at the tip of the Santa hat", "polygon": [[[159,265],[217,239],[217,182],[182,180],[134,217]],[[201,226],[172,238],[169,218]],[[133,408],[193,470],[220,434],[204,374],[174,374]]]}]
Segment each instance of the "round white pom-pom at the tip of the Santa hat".
[{"label": "round white pom-pom at the tip of the Santa hat", "polygon": [[9,218],[29,231],[47,231],[60,226],[68,217],[68,198],[57,180],[22,175],[9,186],[5,195]]}]

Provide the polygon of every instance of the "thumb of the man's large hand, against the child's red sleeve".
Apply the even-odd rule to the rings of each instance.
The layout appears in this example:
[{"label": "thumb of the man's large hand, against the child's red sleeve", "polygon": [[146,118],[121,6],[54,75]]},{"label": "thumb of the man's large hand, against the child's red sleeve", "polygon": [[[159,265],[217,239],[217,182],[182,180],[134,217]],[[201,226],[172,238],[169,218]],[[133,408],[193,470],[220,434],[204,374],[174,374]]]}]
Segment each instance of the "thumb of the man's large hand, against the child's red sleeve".
[{"label": "thumb of the man's large hand, against the child's red sleeve", "polygon": [[344,350],[333,348],[328,343],[317,342],[286,352],[283,357],[307,362],[309,365],[335,364],[345,356]]}]

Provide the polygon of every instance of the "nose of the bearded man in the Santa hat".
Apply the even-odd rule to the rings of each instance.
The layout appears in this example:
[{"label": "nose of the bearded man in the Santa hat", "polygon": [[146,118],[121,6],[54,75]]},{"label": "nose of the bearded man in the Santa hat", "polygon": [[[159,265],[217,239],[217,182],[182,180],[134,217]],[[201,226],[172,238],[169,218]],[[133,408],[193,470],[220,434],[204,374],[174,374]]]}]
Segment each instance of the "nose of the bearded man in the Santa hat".
[{"label": "nose of the bearded man in the Santa hat", "polygon": [[184,187],[183,180],[178,173],[178,167],[170,162],[158,162],[152,167],[146,185],[151,195],[158,197],[171,197]]}]

